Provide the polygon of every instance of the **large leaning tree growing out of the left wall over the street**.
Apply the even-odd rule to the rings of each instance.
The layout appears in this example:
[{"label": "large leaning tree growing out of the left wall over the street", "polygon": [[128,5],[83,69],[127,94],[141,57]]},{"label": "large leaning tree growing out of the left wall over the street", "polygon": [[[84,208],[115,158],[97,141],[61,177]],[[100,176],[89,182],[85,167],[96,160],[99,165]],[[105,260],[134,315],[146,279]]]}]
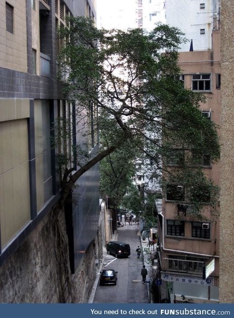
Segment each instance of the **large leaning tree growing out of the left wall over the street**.
[{"label": "large leaning tree growing out of the left wall over the street", "polygon": [[[59,207],[85,171],[129,143],[144,154],[152,171],[166,169],[165,160],[178,147],[218,160],[215,124],[198,109],[204,97],[176,79],[177,48],[183,41],[178,29],[98,30],[83,17],[70,17],[67,25],[59,33],[66,39],[59,56],[64,96],[77,101],[79,122],[87,123],[91,106],[98,107],[93,129],[108,135],[108,145],[100,145],[92,158],[74,147],[81,160],[72,175],[65,162]],[[167,171],[176,178],[175,171]]]}]

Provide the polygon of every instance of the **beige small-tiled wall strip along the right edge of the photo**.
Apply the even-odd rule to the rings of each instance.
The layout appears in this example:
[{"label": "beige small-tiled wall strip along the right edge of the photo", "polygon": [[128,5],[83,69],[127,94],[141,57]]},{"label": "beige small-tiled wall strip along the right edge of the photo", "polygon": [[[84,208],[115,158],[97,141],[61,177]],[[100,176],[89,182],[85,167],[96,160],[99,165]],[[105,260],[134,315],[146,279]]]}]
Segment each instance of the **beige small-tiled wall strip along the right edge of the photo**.
[{"label": "beige small-tiled wall strip along the right edge of the photo", "polygon": [[221,0],[219,302],[234,303],[234,2]]}]

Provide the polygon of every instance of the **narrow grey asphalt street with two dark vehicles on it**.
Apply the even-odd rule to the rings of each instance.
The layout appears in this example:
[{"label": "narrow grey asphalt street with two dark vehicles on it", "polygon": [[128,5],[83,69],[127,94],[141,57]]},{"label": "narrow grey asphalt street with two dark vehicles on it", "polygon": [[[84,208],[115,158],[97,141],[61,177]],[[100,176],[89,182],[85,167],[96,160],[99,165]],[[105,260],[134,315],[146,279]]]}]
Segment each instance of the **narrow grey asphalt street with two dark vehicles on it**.
[{"label": "narrow grey asphalt street with two dark vehicles on it", "polygon": [[[140,271],[143,265],[143,256],[137,258],[137,246],[140,246],[139,227],[137,224],[126,225],[117,230],[117,239],[128,243],[131,255],[127,258],[116,258],[104,251],[103,268],[114,269],[117,274],[117,285],[97,286],[94,303],[148,303],[147,284],[133,283],[132,280],[141,280]],[[114,240],[114,238],[113,238]]]}]

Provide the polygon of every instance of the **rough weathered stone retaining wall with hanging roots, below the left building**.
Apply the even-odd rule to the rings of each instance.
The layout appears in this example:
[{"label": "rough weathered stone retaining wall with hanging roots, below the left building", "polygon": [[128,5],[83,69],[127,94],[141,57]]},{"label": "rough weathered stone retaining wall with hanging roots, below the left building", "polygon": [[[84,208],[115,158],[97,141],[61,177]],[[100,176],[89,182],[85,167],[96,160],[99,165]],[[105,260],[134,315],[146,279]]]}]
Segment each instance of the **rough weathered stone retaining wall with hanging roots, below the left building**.
[{"label": "rough weathered stone retaining wall with hanging roots, below the left building", "polygon": [[[89,245],[75,274],[59,277],[49,215],[40,221],[20,248],[0,267],[0,302],[6,303],[87,303],[97,276],[95,259],[102,257],[101,229]],[[64,213],[59,214],[65,234]],[[67,245],[67,258],[68,245]],[[65,259],[65,258],[64,258]],[[60,259],[63,264],[64,259]],[[65,281],[69,280],[70,290]],[[64,283],[62,286],[61,282]],[[65,286],[65,288],[63,288]],[[64,293],[63,293],[64,291]],[[60,295],[59,295],[60,293]],[[64,301],[61,299],[64,294]],[[60,296],[60,297],[59,297]]]}]

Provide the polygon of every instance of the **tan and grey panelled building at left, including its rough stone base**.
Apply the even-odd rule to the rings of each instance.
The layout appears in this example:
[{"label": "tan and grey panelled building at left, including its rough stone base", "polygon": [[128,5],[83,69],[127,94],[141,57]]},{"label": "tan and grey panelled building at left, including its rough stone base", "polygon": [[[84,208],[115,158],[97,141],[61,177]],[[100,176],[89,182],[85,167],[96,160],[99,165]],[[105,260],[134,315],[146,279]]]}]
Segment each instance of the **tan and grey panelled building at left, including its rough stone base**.
[{"label": "tan and grey panelled building at left, including its rough stone base", "polygon": [[[82,140],[76,126],[78,105],[63,99],[57,81],[56,57],[64,42],[58,40],[56,32],[69,15],[96,19],[96,1],[0,2],[0,299],[3,302],[87,301],[96,276],[95,257],[98,259],[101,253],[97,236],[98,165],[78,180],[79,187],[65,206],[66,219],[64,215],[60,217],[64,233],[68,234],[69,277],[79,280],[79,284],[74,284],[79,286],[75,288],[75,297],[68,291],[58,296],[62,288],[58,286],[56,264],[50,258],[53,245],[48,213],[59,199],[61,180],[60,150],[52,148],[50,138],[56,118],[71,122],[72,139],[64,144],[68,153],[72,144],[79,143],[85,143],[91,155],[98,151],[95,136],[93,140]],[[84,270],[86,261],[89,268]]]}]

